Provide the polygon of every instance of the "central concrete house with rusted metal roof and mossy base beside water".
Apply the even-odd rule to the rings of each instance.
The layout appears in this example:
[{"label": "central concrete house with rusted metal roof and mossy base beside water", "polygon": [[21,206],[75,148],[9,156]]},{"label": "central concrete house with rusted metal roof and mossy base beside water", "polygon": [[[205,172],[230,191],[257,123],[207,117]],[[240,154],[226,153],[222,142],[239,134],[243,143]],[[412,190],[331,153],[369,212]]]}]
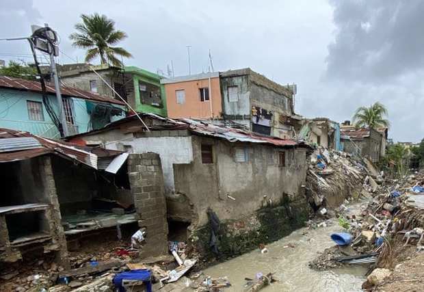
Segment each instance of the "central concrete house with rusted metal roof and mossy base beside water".
[{"label": "central concrete house with rusted metal roof and mossy base beside water", "polygon": [[69,140],[134,154],[158,153],[170,239],[190,237],[208,253],[213,213],[224,222],[214,231],[217,250],[240,254],[306,221],[305,144],[189,119],[153,114],[142,119],[148,129],[131,116]]}]

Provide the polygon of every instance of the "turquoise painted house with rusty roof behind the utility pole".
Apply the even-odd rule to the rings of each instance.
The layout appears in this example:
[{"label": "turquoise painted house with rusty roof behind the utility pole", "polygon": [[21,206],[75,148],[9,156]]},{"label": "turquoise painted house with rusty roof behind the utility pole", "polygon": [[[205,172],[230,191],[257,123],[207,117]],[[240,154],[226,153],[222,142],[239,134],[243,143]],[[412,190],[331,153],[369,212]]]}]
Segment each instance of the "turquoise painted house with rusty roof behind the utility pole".
[{"label": "turquoise painted house with rusty roof behind the utility pole", "polygon": [[[40,82],[0,76],[0,128],[28,131],[59,139],[47,106],[59,116],[55,88],[47,83],[43,101]],[[62,87],[62,101],[69,135],[101,129],[126,116],[124,103],[76,88]]]}]

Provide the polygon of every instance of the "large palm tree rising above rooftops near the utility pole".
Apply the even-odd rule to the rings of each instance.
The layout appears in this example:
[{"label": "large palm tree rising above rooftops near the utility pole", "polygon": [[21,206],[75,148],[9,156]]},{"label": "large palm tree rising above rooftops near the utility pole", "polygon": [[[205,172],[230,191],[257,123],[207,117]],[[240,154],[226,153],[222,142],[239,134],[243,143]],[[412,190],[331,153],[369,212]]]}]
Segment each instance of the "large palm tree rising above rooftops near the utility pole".
[{"label": "large palm tree rising above rooftops near the utility pole", "polygon": [[81,15],[82,23],[77,23],[75,32],[69,36],[72,44],[81,49],[87,49],[85,62],[90,62],[96,57],[100,57],[101,64],[111,64],[113,66],[122,66],[122,62],[116,57],[132,57],[131,53],[121,47],[111,47],[117,44],[127,34],[124,31],[115,29],[115,22],[105,15],[92,14]]}]

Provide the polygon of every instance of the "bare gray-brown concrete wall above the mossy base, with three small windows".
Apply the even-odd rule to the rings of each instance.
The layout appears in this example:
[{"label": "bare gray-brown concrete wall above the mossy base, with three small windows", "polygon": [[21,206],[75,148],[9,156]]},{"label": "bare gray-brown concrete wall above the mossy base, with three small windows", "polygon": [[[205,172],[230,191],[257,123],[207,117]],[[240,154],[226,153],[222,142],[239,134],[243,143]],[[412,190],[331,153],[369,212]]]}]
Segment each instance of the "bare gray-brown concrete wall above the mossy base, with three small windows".
[{"label": "bare gray-brown concrete wall above the mossy base, with three small windows", "polygon": [[[194,161],[174,165],[175,190],[194,204],[198,226],[207,223],[210,207],[221,220],[254,213],[264,204],[279,202],[283,193],[302,196],[306,180],[306,150],[232,144],[193,136]],[[201,144],[213,145],[214,163],[203,164]],[[235,148],[246,148],[247,162],[235,162]],[[286,153],[286,166],[278,165],[278,151]],[[235,198],[232,200],[228,196]],[[197,219],[197,218],[196,218]]]}]

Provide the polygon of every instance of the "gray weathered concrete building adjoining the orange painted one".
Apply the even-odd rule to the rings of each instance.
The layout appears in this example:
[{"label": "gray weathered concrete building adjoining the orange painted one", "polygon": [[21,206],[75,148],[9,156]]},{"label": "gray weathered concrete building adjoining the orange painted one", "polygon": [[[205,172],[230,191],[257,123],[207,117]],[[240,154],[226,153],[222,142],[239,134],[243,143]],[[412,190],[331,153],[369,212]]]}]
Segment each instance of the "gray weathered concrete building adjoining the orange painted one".
[{"label": "gray weathered concrete building adjoining the orange painted one", "polygon": [[293,87],[283,86],[250,68],[220,72],[222,118],[252,132],[284,139],[295,137],[302,118],[294,113]]}]

